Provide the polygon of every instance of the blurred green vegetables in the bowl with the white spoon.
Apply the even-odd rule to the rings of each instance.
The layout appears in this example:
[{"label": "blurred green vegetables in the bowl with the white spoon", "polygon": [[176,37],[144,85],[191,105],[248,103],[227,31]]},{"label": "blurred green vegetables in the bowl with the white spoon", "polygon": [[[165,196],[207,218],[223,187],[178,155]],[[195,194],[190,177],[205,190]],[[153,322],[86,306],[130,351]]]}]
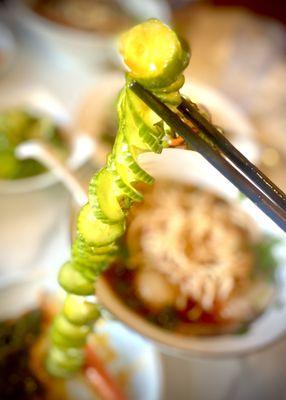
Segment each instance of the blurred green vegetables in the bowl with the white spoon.
[{"label": "blurred green vegetables in the bowl with the white spoon", "polygon": [[45,168],[35,160],[19,160],[16,147],[31,139],[49,142],[65,157],[68,144],[62,129],[48,116],[25,108],[9,108],[0,112],[0,179],[20,179],[41,174]]}]

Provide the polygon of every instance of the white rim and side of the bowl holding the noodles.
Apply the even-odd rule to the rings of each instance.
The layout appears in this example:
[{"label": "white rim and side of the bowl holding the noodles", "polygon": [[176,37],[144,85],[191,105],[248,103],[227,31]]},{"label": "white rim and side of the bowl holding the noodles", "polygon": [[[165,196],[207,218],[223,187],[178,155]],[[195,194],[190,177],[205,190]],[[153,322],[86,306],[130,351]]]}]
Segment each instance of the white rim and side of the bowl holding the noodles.
[{"label": "white rim and side of the bowl holding the noodles", "polygon": [[163,330],[128,308],[113,292],[105,278],[101,277],[98,280],[97,295],[104,307],[121,322],[157,343],[163,350],[184,357],[227,357],[248,354],[258,351],[285,336],[285,234],[249,200],[239,200],[238,190],[235,186],[199,154],[179,149],[166,149],[161,155],[145,153],[141,155],[139,161],[141,166],[155,178],[168,178],[209,188],[229,199],[232,203],[241,202],[242,209],[256,220],[262,232],[280,238],[281,245],[277,248],[277,255],[280,259],[277,293],[273,303],[250,325],[249,330],[241,335],[192,337]]}]

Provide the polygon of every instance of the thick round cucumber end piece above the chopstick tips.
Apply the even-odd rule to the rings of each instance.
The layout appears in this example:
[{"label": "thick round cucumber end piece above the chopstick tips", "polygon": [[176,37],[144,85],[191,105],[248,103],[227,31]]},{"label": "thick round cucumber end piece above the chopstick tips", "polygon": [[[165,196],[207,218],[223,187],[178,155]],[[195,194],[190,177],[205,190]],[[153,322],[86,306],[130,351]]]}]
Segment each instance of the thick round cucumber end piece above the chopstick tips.
[{"label": "thick round cucumber end piece above the chopstick tips", "polygon": [[150,19],[122,35],[120,52],[132,75],[155,89],[170,85],[185,66],[184,50],[175,32]]}]

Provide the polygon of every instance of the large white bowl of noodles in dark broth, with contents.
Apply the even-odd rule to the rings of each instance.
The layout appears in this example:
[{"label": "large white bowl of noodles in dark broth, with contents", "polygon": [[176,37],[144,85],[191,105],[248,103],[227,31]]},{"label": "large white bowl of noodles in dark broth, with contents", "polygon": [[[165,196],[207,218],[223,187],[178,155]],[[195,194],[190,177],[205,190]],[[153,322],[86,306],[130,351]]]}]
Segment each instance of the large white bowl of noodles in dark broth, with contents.
[{"label": "large white bowl of noodles in dark broth, with contents", "polygon": [[248,354],[283,337],[279,228],[194,152],[167,149],[140,164],[159,184],[131,211],[124,251],[98,280],[102,305],[184,357]]}]

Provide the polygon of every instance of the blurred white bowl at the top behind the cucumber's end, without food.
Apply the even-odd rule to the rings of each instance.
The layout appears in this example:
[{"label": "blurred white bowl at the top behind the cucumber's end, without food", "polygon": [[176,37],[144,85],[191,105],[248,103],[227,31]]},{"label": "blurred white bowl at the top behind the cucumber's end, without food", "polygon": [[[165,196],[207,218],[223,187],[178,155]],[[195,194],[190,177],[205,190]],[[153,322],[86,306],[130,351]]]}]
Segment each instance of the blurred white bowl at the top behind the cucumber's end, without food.
[{"label": "blurred white bowl at the top behind the cucumber's end, without food", "polygon": [[[73,62],[80,62],[88,66],[100,64],[103,61],[116,61],[119,63],[116,46],[117,35],[85,32],[55,23],[48,18],[41,17],[28,5],[33,0],[12,0],[11,10],[18,21],[33,34],[41,38],[50,48],[56,50],[58,55],[66,56]],[[150,17],[158,17],[166,22],[170,19],[167,3],[163,0],[121,0],[120,3],[135,21]]]}]

